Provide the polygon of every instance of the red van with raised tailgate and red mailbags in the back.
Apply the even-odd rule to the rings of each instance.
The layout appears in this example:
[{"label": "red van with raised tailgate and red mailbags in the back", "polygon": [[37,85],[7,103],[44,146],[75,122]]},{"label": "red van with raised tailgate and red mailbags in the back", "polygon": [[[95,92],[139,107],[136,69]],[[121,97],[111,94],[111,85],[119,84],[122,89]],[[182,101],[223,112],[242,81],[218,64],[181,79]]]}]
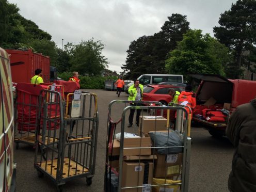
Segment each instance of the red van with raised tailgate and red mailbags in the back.
[{"label": "red van with raised tailgate and red mailbags in the back", "polygon": [[200,79],[193,122],[209,130],[212,136],[225,135],[229,115],[238,105],[256,96],[256,81],[227,79],[220,75],[190,74]]}]

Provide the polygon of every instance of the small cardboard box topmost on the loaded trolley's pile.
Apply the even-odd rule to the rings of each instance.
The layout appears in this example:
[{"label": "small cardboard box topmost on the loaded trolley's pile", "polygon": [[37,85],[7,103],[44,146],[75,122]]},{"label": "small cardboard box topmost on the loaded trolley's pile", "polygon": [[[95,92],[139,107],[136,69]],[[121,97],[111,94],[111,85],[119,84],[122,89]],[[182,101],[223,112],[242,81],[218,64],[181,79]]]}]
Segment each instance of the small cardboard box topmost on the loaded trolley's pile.
[{"label": "small cardboard box topmost on the loaded trolley's pile", "polygon": [[167,119],[162,116],[139,116],[139,132],[149,133],[150,131],[163,131],[167,127]]}]

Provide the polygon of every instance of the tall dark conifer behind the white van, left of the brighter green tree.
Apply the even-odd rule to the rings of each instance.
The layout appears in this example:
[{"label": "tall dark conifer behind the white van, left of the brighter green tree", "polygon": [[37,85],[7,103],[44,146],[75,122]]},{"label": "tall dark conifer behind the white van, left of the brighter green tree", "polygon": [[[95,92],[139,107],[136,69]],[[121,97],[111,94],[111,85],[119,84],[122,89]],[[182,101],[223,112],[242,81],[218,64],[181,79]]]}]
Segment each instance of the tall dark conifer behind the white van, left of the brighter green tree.
[{"label": "tall dark conifer behind the white van, left of the brighter green tree", "polygon": [[121,67],[126,78],[137,78],[145,73],[164,73],[165,59],[168,52],[175,49],[177,41],[189,29],[185,15],[172,14],[164,23],[159,33],[142,36],[131,42],[125,65]]}]

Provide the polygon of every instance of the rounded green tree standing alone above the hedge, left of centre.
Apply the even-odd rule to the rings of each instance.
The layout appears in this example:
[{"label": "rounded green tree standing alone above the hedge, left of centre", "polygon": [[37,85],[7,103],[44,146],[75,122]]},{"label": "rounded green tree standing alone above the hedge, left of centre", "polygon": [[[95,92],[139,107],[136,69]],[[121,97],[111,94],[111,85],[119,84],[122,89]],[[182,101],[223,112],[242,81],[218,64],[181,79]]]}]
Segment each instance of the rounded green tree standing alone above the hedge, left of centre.
[{"label": "rounded green tree standing alone above the hedge, left of centre", "polygon": [[81,74],[101,75],[107,68],[107,59],[102,55],[104,44],[101,41],[81,41],[77,45],[69,44],[71,69]]}]

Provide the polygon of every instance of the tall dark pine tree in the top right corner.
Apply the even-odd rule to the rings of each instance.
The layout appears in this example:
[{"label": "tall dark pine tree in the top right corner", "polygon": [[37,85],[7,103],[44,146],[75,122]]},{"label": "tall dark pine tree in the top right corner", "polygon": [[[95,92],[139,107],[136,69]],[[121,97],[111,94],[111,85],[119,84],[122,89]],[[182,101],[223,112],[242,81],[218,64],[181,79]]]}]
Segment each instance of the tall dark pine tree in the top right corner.
[{"label": "tall dark pine tree in the top right corner", "polygon": [[[229,65],[229,75],[239,78],[242,66],[250,66],[246,52],[254,52],[256,43],[256,1],[238,0],[231,9],[220,15],[219,25],[214,27],[215,37],[234,53]],[[248,63],[249,62],[249,63]]]}]

